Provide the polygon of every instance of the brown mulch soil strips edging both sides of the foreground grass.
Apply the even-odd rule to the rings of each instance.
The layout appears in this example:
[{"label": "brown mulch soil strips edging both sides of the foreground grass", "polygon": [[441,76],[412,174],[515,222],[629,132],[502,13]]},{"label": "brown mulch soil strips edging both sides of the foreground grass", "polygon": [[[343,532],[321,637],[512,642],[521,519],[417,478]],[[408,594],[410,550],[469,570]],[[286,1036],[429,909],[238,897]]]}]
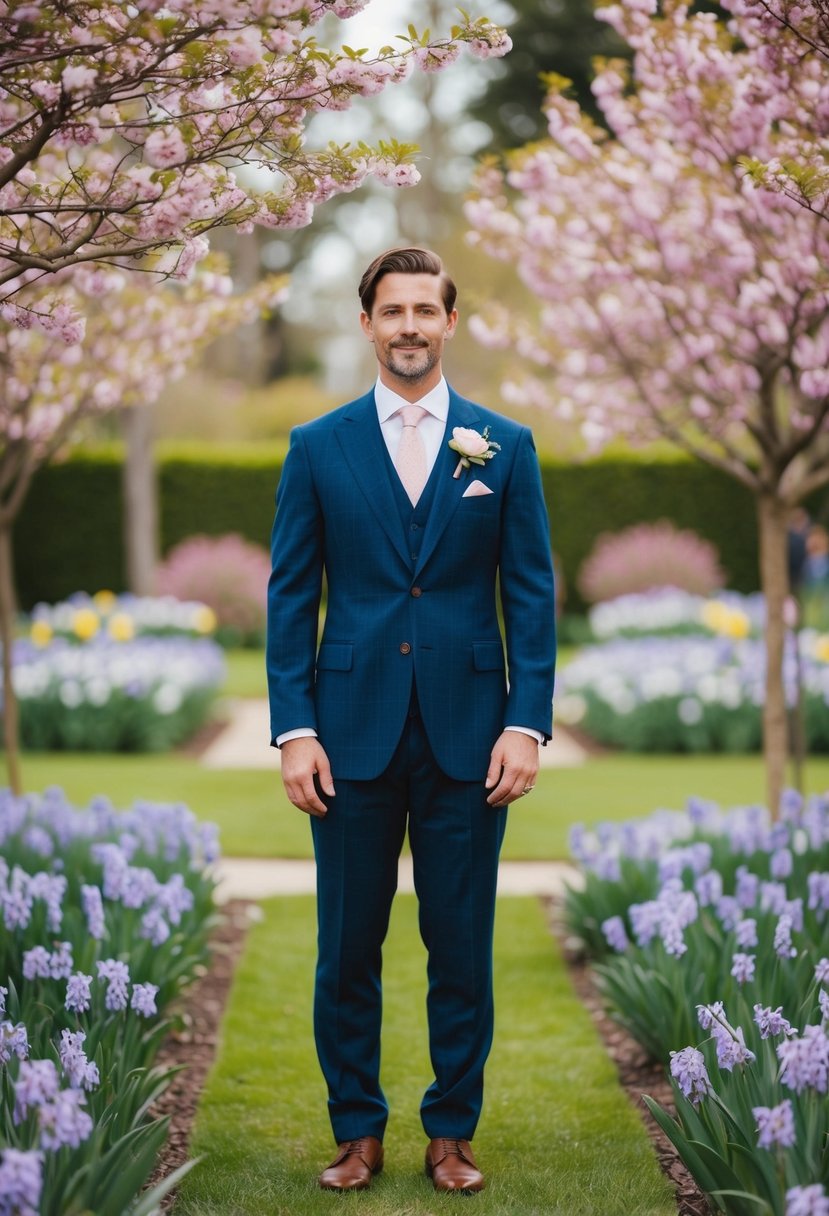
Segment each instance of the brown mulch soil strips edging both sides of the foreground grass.
[{"label": "brown mulch soil strips edging both sides of the foreground grass", "polygon": [[[705,1197],[642,1102],[642,1094],[647,1093],[671,1114],[675,1113],[665,1070],[648,1060],[636,1040],[604,1012],[588,966],[566,940],[560,902],[551,899],[546,905],[551,931],[562,944],[575,991],[590,1010],[619,1071],[619,1080],[648,1130],[659,1164],[675,1187],[677,1216],[710,1216]],[[170,1132],[151,1183],[167,1177],[188,1158],[196,1107],[213,1064],[233,969],[242,953],[254,908],[255,905],[244,900],[233,900],[221,908],[221,922],[213,935],[212,964],[187,990],[181,1009],[182,1029],[169,1036],[158,1055],[159,1066],[184,1068],[156,1107],[157,1114],[170,1116]],[[174,1198],[175,1192],[167,1197],[162,1205],[164,1211],[170,1210]]]}]

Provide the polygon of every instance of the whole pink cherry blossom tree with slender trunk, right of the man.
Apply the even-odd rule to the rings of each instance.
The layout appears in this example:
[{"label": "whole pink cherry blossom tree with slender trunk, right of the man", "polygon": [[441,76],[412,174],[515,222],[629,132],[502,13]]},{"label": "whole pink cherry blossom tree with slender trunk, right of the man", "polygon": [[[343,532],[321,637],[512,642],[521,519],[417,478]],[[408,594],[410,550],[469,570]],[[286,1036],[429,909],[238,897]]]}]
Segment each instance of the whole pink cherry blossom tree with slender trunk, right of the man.
[{"label": "whole pink cherry blossom tree with slender trunk, right of the man", "polygon": [[[678,0],[599,11],[630,43],[631,69],[599,66],[610,134],[560,91],[549,139],[481,168],[472,240],[514,263],[537,316],[494,305],[478,336],[512,347],[513,402],[581,420],[594,447],[667,438],[755,495],[767,602],[763,708],[769,805],[786,760],[783,691],[786,518],[829,482],[829,226],[793,191],[746,175],[790,148],[782,109],[825,139],[829,79],[817,55],[769,57],[751,0],[728,28]],[[776,0],[777,2],[777,0]],[[807,9],[805,0],[802,9]],[[772,71],[774,62],[785,68]],[[782,101],[780,89],[793,90]],[[535,365],[535,371],[530,367]]]}]

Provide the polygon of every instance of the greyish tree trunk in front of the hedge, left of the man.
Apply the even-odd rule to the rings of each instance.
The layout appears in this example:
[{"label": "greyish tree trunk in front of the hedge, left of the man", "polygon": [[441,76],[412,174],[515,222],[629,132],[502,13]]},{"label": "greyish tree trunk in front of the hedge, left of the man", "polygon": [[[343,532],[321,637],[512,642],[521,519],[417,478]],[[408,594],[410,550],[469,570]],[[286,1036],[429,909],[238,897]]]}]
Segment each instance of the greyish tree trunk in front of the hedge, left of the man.
[{"label": "greyish tree trunk in front of the hedge, left of the man", "polygon": [[134,406],[122,415],[124,435],[124,550],[126,585],[136,596],[156,592],[158,489],[153,460],[152,410]]}]

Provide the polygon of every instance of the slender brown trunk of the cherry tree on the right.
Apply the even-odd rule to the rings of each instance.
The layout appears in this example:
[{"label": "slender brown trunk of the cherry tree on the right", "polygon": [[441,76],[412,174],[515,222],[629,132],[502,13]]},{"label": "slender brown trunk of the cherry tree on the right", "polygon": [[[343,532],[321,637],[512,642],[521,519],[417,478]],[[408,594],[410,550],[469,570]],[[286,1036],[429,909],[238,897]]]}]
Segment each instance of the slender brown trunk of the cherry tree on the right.
[{"label": "slender brown trunk of the cherry tree on the right", "polygon": [[757,499],[760,529],[760,581],[766,597],[766,704],[763,706],[763,753],[768,807],[777,818],[785,781],[788,730],[783,686],[783,612],[789,593],[786,562],[788,511],[779,499],[761,494]]}]

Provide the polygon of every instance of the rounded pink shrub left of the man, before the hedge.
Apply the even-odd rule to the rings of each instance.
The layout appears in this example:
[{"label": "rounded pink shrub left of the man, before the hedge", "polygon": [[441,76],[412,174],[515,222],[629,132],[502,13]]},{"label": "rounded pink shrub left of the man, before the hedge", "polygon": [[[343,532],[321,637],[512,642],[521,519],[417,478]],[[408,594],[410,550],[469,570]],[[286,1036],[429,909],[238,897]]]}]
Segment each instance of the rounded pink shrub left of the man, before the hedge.
[{"label": "rounded pink shrub left of the man, before the hedge", "polygon": [[242,536],[188,536],[159,565],[158,592],[201,599],[213,608],[220,631],[255,641],[265,629],[270,570],[265,550]]}]

